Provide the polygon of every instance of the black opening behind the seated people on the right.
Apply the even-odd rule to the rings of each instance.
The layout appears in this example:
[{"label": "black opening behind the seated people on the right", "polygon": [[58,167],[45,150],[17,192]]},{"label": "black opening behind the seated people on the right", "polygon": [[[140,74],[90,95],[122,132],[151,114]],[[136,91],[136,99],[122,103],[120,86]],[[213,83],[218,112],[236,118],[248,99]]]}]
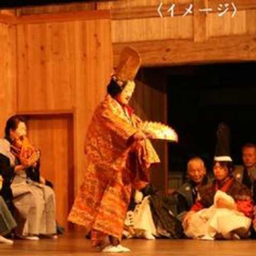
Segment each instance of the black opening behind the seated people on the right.
[{"label": "black opening behind the seated people on the right", "polygon": [[169,68],[168,123],[179,134],[179,143],[168,145],[169,172],[185,172],[192,156],[211,170],[222,121],[230,126],[234,164],[241,164],[242,145],[256,143],[255,74],[255,62]]}]

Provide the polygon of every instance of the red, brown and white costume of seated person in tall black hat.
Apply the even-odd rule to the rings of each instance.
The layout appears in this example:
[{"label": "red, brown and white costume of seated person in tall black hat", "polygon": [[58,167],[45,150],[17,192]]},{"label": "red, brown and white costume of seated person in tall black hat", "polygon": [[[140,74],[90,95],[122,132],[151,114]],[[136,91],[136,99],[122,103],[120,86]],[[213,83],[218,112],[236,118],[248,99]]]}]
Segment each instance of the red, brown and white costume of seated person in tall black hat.
[{"label": "red, brown and white costume of seated person in tall black hat", "polygon": [[[234,208],[216,207],[214,197],[219,196],[233,198]],[[206,239],[215,239],[220,233],[225,239],[232,239],[232,235],[238,232],[240,238],[248,236],[253,201],[250,190],[232,177],[227,177],[220,185],[217,180],[212,184],[202,186],[198,189],[200,199],[191,208],[196,213],[189,220],[185,234],[191,238],[200,236]],[[225,197],[224,200],[229,200]],[[235,209],[236,208],[236,209]],[[232,234],[233,232],[233,234]]]}]

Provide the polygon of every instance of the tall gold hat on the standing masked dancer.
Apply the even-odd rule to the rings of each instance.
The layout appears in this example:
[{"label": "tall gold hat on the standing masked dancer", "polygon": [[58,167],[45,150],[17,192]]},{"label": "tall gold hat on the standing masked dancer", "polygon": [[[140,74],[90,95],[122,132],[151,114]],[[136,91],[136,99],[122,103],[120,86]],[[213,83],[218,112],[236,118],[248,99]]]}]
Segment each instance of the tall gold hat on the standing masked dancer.
[{"label": "tall gold hat on the standing masked dancer", "polygon": [[120,86],[125,81],[134,81],[140,65],[141,59],[139,53],[131,46],[127,46],[120,53],[119,64],[112,78]]}]

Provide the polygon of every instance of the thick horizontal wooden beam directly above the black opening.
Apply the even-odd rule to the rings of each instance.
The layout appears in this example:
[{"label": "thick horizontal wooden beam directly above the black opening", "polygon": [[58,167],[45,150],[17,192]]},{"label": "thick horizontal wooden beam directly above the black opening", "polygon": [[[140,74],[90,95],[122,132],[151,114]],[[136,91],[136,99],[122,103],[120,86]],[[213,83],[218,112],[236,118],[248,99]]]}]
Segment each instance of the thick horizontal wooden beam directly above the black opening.
[{"label": "thick horizontal wooden beam directly above the black opening", "polygon": [[144,67],[256,61],[256,35],[221,36],[206,42],[175,39],[116,43],[113,45],[115,67],[120,51],[127,45],[138,50]]}]

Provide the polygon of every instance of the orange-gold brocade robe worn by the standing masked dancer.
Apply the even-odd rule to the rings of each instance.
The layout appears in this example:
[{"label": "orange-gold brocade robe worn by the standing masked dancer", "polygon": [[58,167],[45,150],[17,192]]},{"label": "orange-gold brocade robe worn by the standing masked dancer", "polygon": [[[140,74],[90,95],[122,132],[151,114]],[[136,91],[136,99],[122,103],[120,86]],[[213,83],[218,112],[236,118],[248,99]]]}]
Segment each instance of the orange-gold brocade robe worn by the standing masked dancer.
[{"label": "orange-gold brocade robe worn by the standing masked dancer", "polygon": [[68,220],[121,239],[134,181],[159,162],[151,142],[130,143],[142,121],[111,96],[97,107],[85,139],[85,175]]}]

